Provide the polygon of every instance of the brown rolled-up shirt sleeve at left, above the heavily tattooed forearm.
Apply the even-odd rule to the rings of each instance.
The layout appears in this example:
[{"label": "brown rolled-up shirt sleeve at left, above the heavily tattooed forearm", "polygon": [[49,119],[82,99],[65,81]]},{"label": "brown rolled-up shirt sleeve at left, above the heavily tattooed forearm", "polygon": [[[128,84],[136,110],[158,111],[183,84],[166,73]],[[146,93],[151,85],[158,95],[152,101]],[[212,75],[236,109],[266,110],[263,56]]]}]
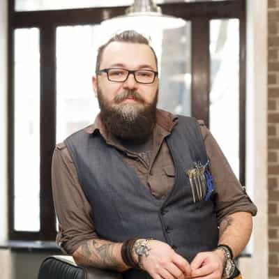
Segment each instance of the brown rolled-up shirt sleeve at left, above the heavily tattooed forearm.
[{"label": "brown rolled-up shirt sleeve at left, above the heavily tattooed forearm", "polygon": [[64,143],[56,145],[52,156],[52,193],[59,221],[56,243],[72,255],[84,241],[96,239],[98,235],[91,219],[91,206]]}]

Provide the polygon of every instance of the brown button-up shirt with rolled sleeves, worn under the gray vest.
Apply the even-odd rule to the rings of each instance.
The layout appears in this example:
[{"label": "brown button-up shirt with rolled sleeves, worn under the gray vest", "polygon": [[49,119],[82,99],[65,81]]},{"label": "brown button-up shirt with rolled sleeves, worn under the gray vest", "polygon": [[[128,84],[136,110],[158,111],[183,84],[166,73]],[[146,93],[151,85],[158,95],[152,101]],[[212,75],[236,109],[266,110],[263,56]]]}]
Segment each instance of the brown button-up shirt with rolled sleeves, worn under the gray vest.
[{"label": "brown button-up shirt with rolled sleeves, worn under the gray vest", "polygon": [[[144,146],[148,149],[145,150],[146,152],[131,150],[129,145],[127,147],[108,133],[100,115],[96,117],[93,125],[85,130],[86,133],[100,133],[107,144],[119,151],[126,164],[133,167],[140,181],[150,190],[151,195],[163,200],[174,186],[174,163],[165,137],[172,132],[177,121],[176,116],[158,110],[153,137],[149,140],[151,144]],[[215,210],[218,223],[220,224],[228,214],[237,211],[247,211],[255,216],[257,213],[255,204],[251,202],[236,179],[216,140],[204,126],[203,121],[199,121],[199,126],[216,188]],[[56,242],[68,254],[73,254],[84,241],[98,238],[98,235],[91,218],[94,205],[92,208],[84,195],[77,178],[77,170],[64,142],[56,145],[53,154],[52,191],[59,220]]]}]

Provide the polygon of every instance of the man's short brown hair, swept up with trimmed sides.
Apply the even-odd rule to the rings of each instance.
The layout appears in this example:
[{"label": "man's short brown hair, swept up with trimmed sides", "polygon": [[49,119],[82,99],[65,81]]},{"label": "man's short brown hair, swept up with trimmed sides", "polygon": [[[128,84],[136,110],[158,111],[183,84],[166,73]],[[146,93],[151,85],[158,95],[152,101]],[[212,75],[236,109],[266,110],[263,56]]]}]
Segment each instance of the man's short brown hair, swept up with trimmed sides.
[{"label": "man's short brown hair, swept up with trimmed sides", "polygon": [[150,40],[148,40],[146,37],[144,37],[141,33],[137,33],[137,31],[134,30],[127,30],[123,31],[122,33],[115,34],[110,40],[107,41],[104,45],[101,45],[98,48],[98,53],[97,53],[97,59],[96,59],[96,71],[100,70],[100,61],[102,59],[103,52],[105,50],[105,47],[109,45],[110,43],[113,42],[122,42],[122,43],[139,43],[143,45],[148,45],[154,56],[155,56],[155,61],[156,61],[156,68],[158,68],[158,59],[156,56],[155,51],[153,50],[153,47],[151,47]]}]

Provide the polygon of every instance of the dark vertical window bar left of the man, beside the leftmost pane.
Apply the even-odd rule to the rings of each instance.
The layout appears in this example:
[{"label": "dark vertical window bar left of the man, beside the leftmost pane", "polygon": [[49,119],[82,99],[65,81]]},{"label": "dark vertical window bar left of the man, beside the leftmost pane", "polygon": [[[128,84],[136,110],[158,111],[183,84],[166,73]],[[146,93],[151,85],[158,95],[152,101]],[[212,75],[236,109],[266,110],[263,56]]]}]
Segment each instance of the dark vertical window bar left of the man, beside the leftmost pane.
[{"label": "dark vertical window bar left of the man, beside the leftmost pane", "polygon": [[40,28],[40,232],[44,240],[56,235],[51,165],[56,135],[56,28]]}]

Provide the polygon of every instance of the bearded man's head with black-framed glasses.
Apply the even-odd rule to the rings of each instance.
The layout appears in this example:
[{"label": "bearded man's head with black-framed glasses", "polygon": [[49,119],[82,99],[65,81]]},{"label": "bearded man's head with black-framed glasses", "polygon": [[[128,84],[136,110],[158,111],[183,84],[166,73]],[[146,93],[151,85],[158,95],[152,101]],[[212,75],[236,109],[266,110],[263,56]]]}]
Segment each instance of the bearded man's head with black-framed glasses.
[{"label": "bearded man's head with black-framed glasses", "polygon": [[99,48],[93,87],[100,116],[116,137],[140,142],[151,134],[158,100],[157,64],[149,41],[135,31],[117,34]]}]

